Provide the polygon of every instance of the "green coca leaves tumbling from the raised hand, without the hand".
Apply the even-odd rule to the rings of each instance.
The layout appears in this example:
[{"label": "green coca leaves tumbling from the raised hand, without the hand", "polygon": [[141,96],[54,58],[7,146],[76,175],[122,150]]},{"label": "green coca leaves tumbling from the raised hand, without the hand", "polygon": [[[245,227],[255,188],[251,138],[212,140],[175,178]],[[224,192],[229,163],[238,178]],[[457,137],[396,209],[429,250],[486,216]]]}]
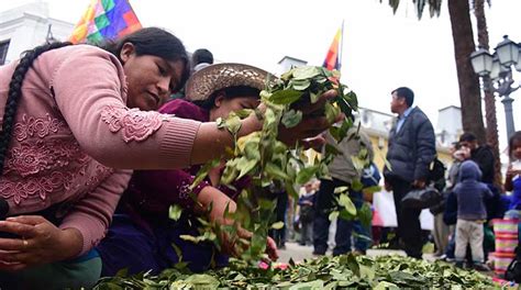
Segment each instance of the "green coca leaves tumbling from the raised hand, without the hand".
[{"label": "green coca leaves tumbling from the raised hand, without the hand", "polygon": [[[339,142],[346,136],[347,130],[353,126],[353,111],[357,110],[356,94],[346,86],[340,83],[337,71],[330,71],[322,67],[304,66],[289,70],[279,79],[269,79],[266,89],[260,92],[260,102],[266,107],[263,114],[263,130],[237,138],[241,127],[241,119],[250,115],[252,110],[243,110],[231,113],[226,119],[217,121],[220,129],[228,130],[235,140],[234,148],[230,148],[225,169],[221,177],[221,183],[232,187],[233,181],[248,177],[251,186],[242,190],[236,200],[236,211],[225,213],[232,224],[213,224],[200,219],[202,227],[198,237],[185,236],[184,238],[199,243],[212,241],[218,247],[221,246],[219,237],[237,236],[240,226],[253,233],[248,241],[237,237],[235,243],[236,253],[246,260],[257,260],[264,257],[266,238],[269,228],[280,228],[284,224],[274,223],[274,210],[278,194],[289,194],[298,199],[297,189],[308,182],[312,177],[326,178],[328,164],[332,160],[336,149],[325,146],[325,154],[321,158],[309,160],[301,145],[288,147],[277,140],[279,129],[293,127],[302,120],[302,108],[304,103],[315,103],[320,96],[334,89],[337,96],[325,102],[323,110],[317,113],[325,115],[333,123],[342,112],[345,118],[330,133]],[[362,150],[355,164],[368,166],[367,150]],[[201,168],[192,188],[203,180],[208,171],[219,164],[212,160]],[[347,188],[335,191],[339,204],[343,210],[335,211],[333,215],[344,219],[354,219],[358,215],[365,223],[370,222],[370,209],[365,205],[356,211],[355,205],[347,194]],[[180,208],[171,209],[171,216],[179,215]]]}]

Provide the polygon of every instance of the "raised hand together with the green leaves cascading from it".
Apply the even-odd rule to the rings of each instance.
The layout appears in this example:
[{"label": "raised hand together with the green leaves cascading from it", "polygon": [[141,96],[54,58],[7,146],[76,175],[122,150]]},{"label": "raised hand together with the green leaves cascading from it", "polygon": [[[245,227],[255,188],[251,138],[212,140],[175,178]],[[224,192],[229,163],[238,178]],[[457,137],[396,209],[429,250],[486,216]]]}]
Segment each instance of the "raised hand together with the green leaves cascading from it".
[{"label": "raised hand together with the green leaves cascading from it", "polygon": [[[251,187],[243,190],[236,201],[236,212],[230,215],[233,226],[223,224],[214,228],[217,235],[224,239],[239,236],[237,225],[252,234],[250,239],[239,238],[239,247],[237,243],[232,243],[234,253],[247,246],[242,258],[258,259],[266,249],[268,254],[275,249],[267,237],[275,208],[274,200],[265,196],[270,186],[285,189],[281,194],[298,198],[296,185],[303,185],[313,176],[321,178],[328,175],[326,164],[335,153],[326,149],[323,159],[309,161],[302,153],[302,145],[323,143],[323,138],[308,138],[321,134],[333,123],[343,121],[330,129],[337,142],[353,126],[353,111],[357,110],[356,94],[340,83],[339,77],[337,72],[322,67],[293,68],[280,79],[270,80],[260,92],[257,112],[262,112],[263,118],[236,112],[226,120],[218,121],[219,127],[228,130],[235,141],[234,148],[228,150],[221,185],[230,186],[244,176],[252,180]],[[262,122],[262,130],[237,137],[241,118],[255,121],[258,125]],[[208,171],[208,167],[204,168]],[[346,211],[346,214],[354,215],[356,212]]]}]

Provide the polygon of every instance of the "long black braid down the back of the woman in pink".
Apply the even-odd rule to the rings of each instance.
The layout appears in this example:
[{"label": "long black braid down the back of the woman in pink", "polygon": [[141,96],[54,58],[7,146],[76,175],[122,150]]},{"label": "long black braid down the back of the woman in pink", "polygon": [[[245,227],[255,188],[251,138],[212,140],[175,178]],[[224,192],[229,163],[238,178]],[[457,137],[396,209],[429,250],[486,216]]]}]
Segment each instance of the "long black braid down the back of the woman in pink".
[{"label": "long black braid down the back of the woman in pink", "polygon": [[44,44],[32,51],[27,51],[14,69],[11,82],[9,82],[8,101],[5,102],[5,111],[3,113],[2,132],[0,132],[0,176],[3,174],[3,164],[5,161],[9,144],[11,143],[11,134],[13,131],[14,119],[16,116],[18,102],[22,96],[22,82],[25,78],[25,74],[27,74],[33,65],[34,59],[36,59],[41,54],[67,45],[70,45],[70,43],[56,42]]}]

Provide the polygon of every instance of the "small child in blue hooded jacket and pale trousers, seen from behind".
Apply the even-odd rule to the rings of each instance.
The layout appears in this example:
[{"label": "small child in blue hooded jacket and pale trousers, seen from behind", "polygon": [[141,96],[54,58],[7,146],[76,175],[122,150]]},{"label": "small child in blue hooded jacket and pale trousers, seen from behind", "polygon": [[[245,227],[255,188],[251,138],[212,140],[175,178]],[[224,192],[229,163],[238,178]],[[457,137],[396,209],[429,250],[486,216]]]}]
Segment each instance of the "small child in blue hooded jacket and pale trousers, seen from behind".
[{"label": "small child in blue hooded jacket and pale trousers, seen from behind", "polygon": [[459,167],[459,182],[454,188],[457,198],[456,222],[456,266],[463,267],[463,261],[470,244],[474,268],[489,271],[485,265],[483,248],[484,226],[487,221],[485,200],[492,198],[490,189],[479,180],[481,172],[473,160],[465,160]]}]

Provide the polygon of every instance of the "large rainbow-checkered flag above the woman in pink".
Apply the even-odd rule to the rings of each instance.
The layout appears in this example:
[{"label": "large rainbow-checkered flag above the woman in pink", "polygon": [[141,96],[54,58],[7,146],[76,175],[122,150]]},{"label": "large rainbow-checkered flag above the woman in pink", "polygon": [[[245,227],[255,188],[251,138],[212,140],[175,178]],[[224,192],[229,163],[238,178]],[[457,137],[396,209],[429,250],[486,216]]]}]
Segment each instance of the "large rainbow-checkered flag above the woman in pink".
[{"label": "large rainbow-checkered flag above the woman in pink", "polygon": [[100,43],[141,29],[128,0],[91,0],[70,35],[73,43]]}]

